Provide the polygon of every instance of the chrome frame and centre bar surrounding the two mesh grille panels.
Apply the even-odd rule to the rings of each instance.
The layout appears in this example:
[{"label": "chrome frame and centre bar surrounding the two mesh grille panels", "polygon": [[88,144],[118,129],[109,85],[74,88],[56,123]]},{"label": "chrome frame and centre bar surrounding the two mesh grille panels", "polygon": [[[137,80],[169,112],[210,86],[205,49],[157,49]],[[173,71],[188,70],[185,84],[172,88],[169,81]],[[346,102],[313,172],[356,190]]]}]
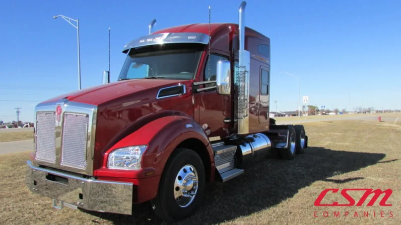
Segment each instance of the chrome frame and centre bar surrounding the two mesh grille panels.
[{"label": "chrome frame and centre bar surrounding the two mesh grille panels", "polygon": [[[96,135],[96,117],[97,117],[97,105],[86,104],[81,102],[69,101],[68,99],[60,99],[54,102],[44,102],[39,103],[35,107],[35,118],[38,112],[41,111],[55,111],[57,105],[60,105],[62,108],[60,121],[56,121],[56,162],[49,163],[43,161],[33,161],[35,166],[44,165],[53,167],[56,169],[61,169],[65,171],[71,171],[86,175],[93,175],[93,158],[94,158],[94,149],[95,149],[95,135]],[[87,149],[86,149],[86,158],[87,158],[87,166],[86,169],[78,169],[73,167],[67,167],[61,165],[61,142],[62,142],[62,123],[64,121],[65,113],[73,113],[73,114],[86,114],[89,116],[89,126],[87,133]],[[37,124],[37,121],[36,121]],[[36,133],[34,135],[33,141],[34,148],[34,157],[36,158]]]}]

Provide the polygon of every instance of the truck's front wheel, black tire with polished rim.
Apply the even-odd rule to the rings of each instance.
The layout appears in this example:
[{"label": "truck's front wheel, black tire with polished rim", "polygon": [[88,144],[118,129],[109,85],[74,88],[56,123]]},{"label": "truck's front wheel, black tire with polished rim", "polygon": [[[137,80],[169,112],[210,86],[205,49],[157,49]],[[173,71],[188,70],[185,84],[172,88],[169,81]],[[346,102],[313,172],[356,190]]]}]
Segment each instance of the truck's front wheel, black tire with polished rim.
[{"label": "truck's front wheel, black tire with polished rim", "polygon": [[[196,178],[189,175],[195,175]],[[197,184],[194,180],[197,180]],[[182,185],[188,183],[189,187]],[[190,149],[175,149],[164,168],[157,196],[151,200],[154,212],[161,219],[170,222],[189,217],[202,203],[205,183],[205,167],[199,155]],[[195,186],[197,190],[193,189]],[[190,202],[185,201],[189,197],[182,195],[182,190],[186,188],[190,189],[187,190],[189,195],[196,191]],[[177,201],[175,196],[181,196],[180,200]]]}]

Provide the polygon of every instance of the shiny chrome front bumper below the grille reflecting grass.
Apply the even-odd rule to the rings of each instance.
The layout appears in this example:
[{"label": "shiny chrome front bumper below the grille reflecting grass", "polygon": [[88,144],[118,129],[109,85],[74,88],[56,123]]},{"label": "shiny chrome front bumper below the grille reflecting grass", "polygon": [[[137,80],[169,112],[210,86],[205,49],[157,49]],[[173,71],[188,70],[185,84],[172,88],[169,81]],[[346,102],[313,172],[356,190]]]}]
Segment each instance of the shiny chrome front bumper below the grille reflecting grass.
[{"label": "shiny chrome front bumper below the grille reflecting grass", "polygon": [[[27,161],[26,183],[33,193],[62,205],[91,211],[132,213],[132,183],[87,179],[32,165]],[[53,206],[55,205],[53,200]],[[60,207],[57,207],[60,208]]]}]

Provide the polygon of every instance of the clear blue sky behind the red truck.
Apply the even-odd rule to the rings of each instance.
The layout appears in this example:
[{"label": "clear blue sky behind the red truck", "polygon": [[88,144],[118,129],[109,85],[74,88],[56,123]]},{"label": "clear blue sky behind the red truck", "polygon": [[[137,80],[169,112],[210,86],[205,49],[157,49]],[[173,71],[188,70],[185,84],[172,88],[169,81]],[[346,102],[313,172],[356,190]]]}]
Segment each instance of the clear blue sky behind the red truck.
[{"label": "clear blue sky behind the red truck", "polygon": [[[229,4],[228,4],[229,3]],[[241,1],[0,2],[0,120],[33,121],[42,100],[78,89],[76,29],[55,15],[80,20],[82,88],[111,80],[122,47],[155,29],[181,24],[238,22]],[[401,1],[247,1],[245,25],[271,38],[271,101],[295,110],[301,98],[326,108],[401,108]],[[5,101],[14,100],[14,101]],[[20,101],[15,101],[20,100]]]}]

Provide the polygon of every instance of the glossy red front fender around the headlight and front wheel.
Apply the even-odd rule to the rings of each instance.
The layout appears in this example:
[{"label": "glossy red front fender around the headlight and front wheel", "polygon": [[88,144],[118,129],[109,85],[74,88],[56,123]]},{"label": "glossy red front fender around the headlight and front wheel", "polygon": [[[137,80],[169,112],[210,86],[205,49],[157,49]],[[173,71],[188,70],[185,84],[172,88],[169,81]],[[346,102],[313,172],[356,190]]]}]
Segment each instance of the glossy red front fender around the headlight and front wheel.
[{"label": "glossy red front fender around the headlight and front wheel", "polygon": [[[154,120],[117,142],[103,154],[101,169],[95,170],[95,176],[120,178],[149,178],[160,176],[173,150],[183,141],[195,138],[206,146],[212,167],[214,156],[209,139],[203,129],[191,118],[167,116]],[[148,145],[142,156],[141,170],[116,170],[107,168],[108,154],[117,148]],[[212,169],[211,171],[214,172]],[[213,177],[213,174],[211,174]]]}]

